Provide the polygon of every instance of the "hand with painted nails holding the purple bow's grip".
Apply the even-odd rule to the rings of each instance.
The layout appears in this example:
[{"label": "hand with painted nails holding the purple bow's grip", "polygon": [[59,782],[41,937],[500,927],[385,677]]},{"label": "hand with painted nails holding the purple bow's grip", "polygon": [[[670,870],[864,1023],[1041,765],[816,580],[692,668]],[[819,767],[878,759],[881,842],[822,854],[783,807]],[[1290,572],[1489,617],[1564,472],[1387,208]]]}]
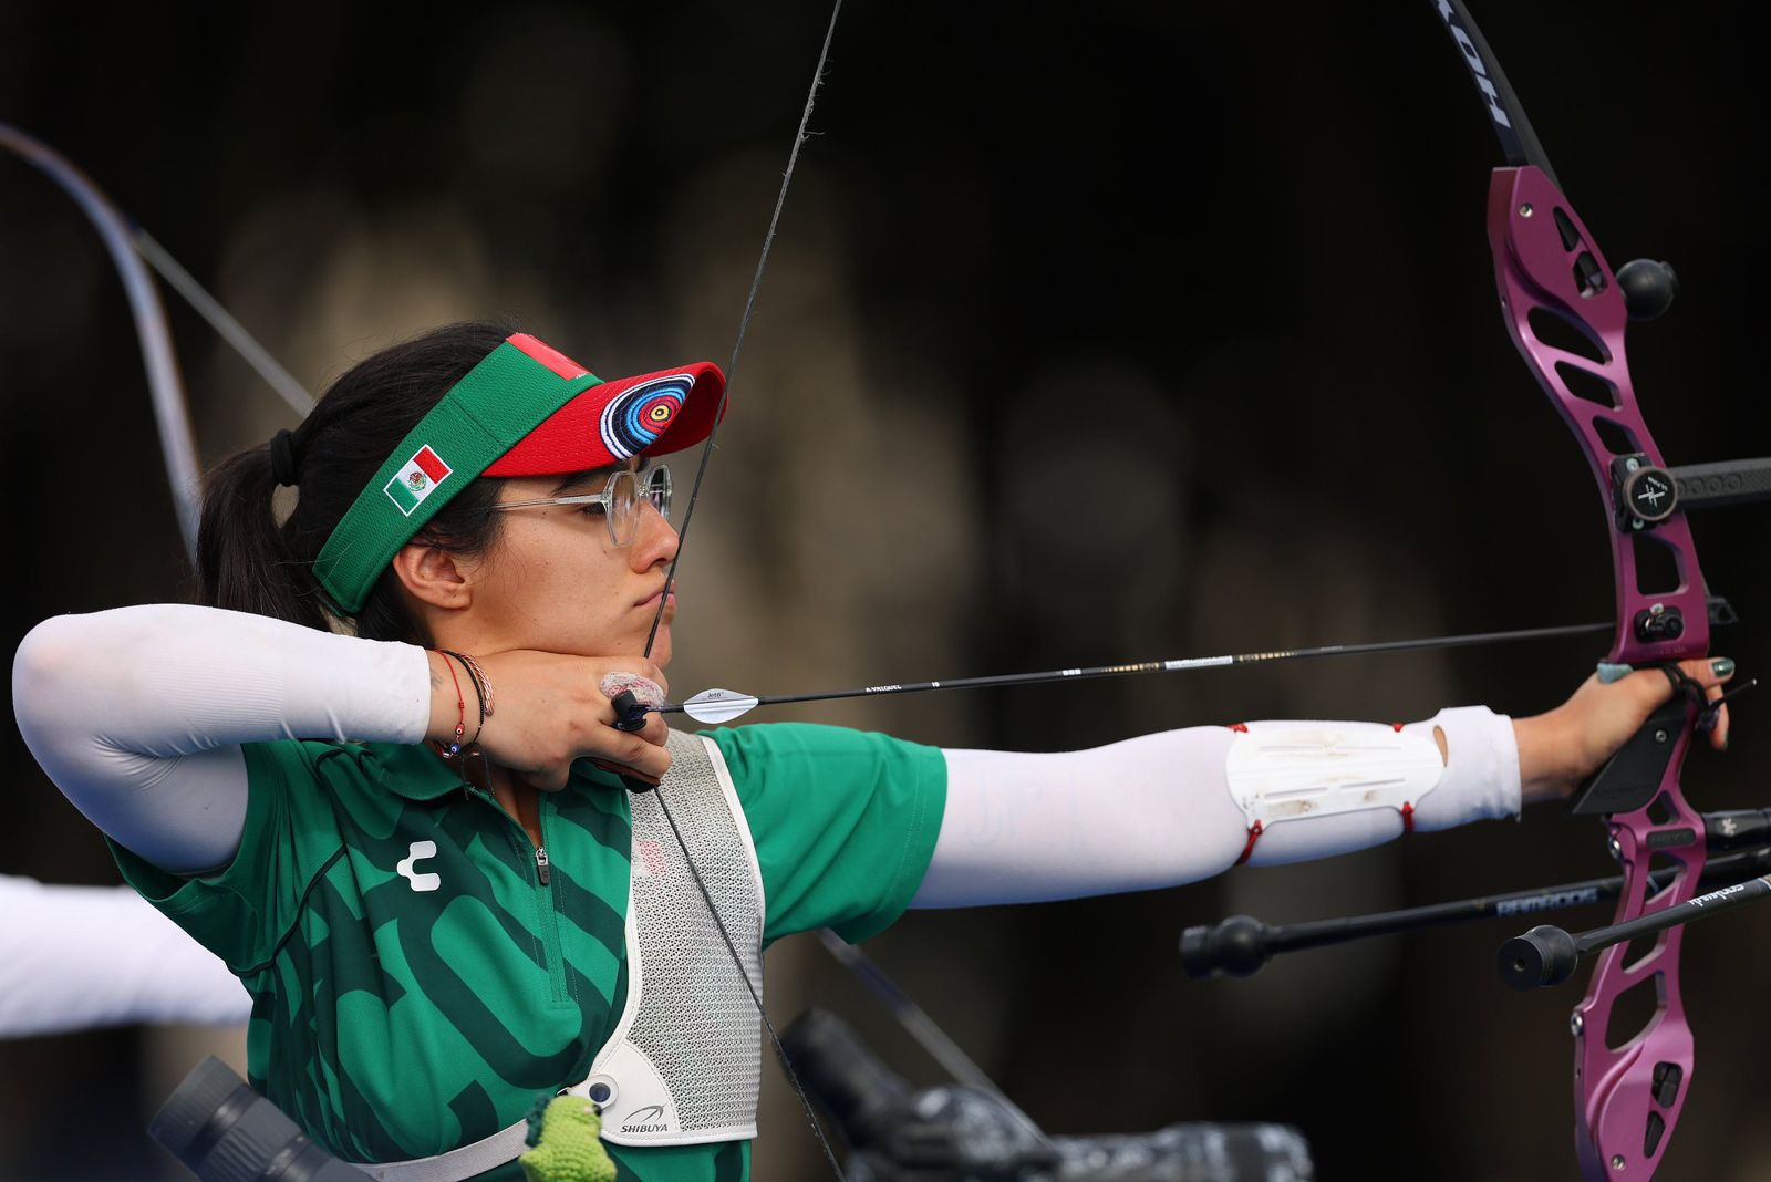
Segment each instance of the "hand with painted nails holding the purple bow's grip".
[{"label": "hand with painted nails holding the purple bow's grip", "polygon": [[[1734,676],[1734,662],[1725,656],[1686,660],[1677,667],[1704,687],[1707,701],[1721,697],[1721,687]],[[1573,794],[1672,694],[1672,679],[1661,669],[1638,669],[1612,683],[1594,674],[1555,710],[1514,720],[1525,803]],[[1718,710],[1709,745],[1728,747],[1727,706]]]}]

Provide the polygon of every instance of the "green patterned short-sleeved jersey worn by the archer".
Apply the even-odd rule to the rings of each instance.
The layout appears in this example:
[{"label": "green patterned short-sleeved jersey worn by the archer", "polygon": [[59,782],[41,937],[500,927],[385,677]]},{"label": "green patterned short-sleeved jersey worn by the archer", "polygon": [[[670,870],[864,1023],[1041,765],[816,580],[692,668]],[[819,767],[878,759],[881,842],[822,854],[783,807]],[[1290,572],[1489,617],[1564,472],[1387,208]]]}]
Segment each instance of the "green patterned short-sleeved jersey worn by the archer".
[{"label": "green patterned short-sleeved jersey worn by the archer", "polygon": [[[916,894],[940,752],[839,727],[708,731],[751,830],[763,940],[864,940]],[[204,878],[113,844],[124,878],[251,993],[248,1078],[347,1161],[407,1161],[576,1085],[627,996],[632,814],[581,761],[540,794],[540,846],[425,747],[244,747],[239,853]],[[737,971],[737,968],[733,968]],[[607,1145],[634,1182],[739,1180],[749,1143]],[[482,1175],[521,1180],[515,1163]]]}]

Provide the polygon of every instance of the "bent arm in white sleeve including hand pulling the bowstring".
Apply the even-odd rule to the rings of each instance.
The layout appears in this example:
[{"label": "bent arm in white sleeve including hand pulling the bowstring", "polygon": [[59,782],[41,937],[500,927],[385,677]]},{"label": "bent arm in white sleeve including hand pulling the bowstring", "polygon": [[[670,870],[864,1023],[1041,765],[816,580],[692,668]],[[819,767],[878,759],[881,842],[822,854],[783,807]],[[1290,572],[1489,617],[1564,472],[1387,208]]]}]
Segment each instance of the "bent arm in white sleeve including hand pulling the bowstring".
[{"label": "bent arm in white sleeve including hand pulling the bowstring", "polygon": [[[611,671],[662,681],[632,656],[480,653],[498,688],[482,747],[537,787],[593,757],[657,779],[657,715],[615,729]],[[416,644],[361,641],[214,607],[158,603],[37,625],[12,662],[12,708],[32,754],[94,825],[174,874],[232,862],[246,821],[241,743],[453,738],[464,669]],[[464,708],[459,702],[469,699]],[[478,718],[468,718],[469,734]]]}]

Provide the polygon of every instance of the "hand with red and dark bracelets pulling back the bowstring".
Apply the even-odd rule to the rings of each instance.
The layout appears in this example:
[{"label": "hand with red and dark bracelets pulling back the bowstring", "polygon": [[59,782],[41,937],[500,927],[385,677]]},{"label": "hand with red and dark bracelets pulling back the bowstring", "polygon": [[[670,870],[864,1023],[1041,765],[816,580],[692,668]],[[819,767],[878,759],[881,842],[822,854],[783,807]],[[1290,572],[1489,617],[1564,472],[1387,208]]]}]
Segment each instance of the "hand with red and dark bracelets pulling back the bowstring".
[{"label": "hand with red and dark bracelets pulling back the bowstring", "polygon": [[[430,733],[427,738],[448,741],[455,734],[455,683],[441,662],[430,653]],[[664,671],[639,656],[561,656],[533,649],[476,655],[492,683],[492,715],[480,731],[480,747],[487,759],[510,768],[526,782],[549,793],[565,787],[572,763],[592,759],[602,768],[657,784],[669,770],[669,752],[664,736],[669,733],[664,717],[646,715],[639,731],[615,729],[613,694],[606,694],[606,679],[625,674],[607,687],[630,685],[643,701],[650,687],[655,701],[664,701],[669,683]],[[453,664],[453,662],[452,662]],[[478,704],[466,671],[455,665],[466,697],[468,733],[471,740],[480,724]],[[638,679],[638,681],[636,681]]]}]

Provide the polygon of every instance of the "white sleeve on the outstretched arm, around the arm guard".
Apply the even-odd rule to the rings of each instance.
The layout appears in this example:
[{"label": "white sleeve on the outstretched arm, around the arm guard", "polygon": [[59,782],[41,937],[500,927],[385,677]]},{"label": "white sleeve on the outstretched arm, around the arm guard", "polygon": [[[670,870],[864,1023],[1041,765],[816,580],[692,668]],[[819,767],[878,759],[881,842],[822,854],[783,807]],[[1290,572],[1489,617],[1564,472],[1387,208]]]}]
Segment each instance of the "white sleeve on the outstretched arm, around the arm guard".
[{"label": "white sleeve on the outstretched arm, around the arm guard", "polygon": [[[1518,814],[1511,718],[1472,706],[1415,727],[1443,731],[1449,752],[1415,810],[1417,830]],[[1226,727],[1192,727],[1080,752],[942,752],[947,809],[910,906],[1077,899],[1227,871],[1249,844],[1224,775],[1233,738]],[[1261,835],[1250,863],[1350,853],[1401,832],[1394,809],[1286,821]]]}]

